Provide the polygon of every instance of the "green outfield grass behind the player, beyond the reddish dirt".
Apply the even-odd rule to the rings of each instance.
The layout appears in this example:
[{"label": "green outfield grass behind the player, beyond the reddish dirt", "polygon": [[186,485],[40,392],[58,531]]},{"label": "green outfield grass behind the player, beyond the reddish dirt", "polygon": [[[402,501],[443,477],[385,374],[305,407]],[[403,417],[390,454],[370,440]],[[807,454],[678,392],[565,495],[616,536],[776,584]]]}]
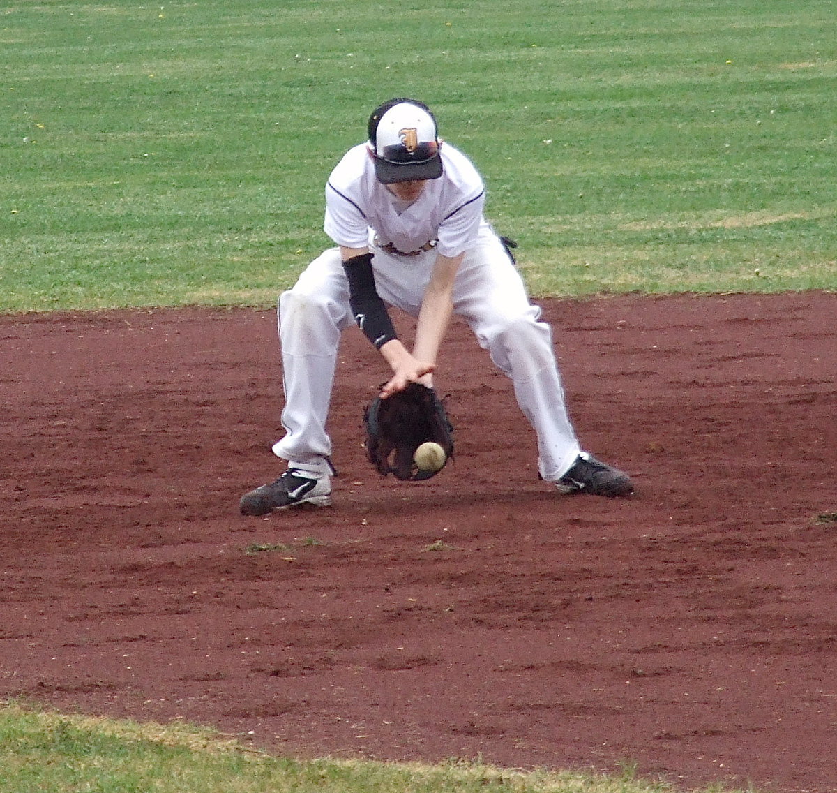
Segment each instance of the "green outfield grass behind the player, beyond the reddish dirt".
[{"label": "green outfield grass behind the player, beyond the reddish dirt", "polygon": [[834,0],[13,3],[0,312],[270,305],[391,95],[537,295],[837,285]]}]

